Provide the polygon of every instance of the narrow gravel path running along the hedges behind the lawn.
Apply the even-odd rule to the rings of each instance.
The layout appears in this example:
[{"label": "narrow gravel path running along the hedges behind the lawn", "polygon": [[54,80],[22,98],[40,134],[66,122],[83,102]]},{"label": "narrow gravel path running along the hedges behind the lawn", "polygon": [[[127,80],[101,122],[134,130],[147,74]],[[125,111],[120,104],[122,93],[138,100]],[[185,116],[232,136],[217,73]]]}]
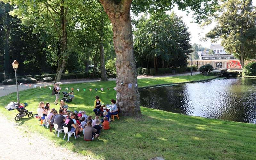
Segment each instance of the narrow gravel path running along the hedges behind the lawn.
[{"label": "narrow gravel path running along the hedges behind the lawn", "polygon": [[[192,74],[195,75],[195,74],[198,74],[199,72],[193,72]],[[188,72],[188,73],[183,73],[183,74],[175,74],[175,75],[172,75],[172,74],[165,74],[165,75],[162,75],[162,76],[145,76],[145,75],[141,75],[141,76],[138,76],[138,79],[144,79],[144,78],[161,78],[161,77],[173,77],[173,76],[185,76],[185,75],[190,75],[191,72]],[[115,81],[116,78],[112,78],[112,79],[108,79],[109,81]],[[96,81],[100,81],[100,79],[97,79],[97,80],[85,80],[85,81],[69,81],[69,82],[63,82],[63,84],[72,84],[72,83],[84,83],[84,82],[96,82]],[[39,83],[36,83],[34,85],[42,85],[42,86],[53,86],[53,82],[49,82],[49,83],[46,83],[46,82],[39,82]],[[31,86],[31,88],[34,88],[33,84]],[[23,90],[26,90],[26,89],[31,89],[28,85],[26,86],[25,84],[18,84],[18,90],[19,91],[23,91]],[[1,85],[0,86],[0,97],[2,96],[6,96],[8,94],[11,94],[13,92],[17,92],[16,91],[16,85]]]}]

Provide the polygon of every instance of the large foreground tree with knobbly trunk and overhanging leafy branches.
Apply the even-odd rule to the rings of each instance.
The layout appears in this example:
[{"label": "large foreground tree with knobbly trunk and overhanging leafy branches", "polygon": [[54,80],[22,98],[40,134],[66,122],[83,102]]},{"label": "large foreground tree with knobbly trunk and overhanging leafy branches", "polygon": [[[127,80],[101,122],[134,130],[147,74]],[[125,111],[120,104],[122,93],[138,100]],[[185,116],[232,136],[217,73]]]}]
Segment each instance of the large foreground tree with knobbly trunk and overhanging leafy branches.
[{"label": "large foreground tree with knobbly trunk and overhanging leafy branches", "polygon": [[[139,116],[140,95],[138,88],[128,88],[128,84],[137,84],[136,66],[133,51],[131,5],[133,13],[140,12],[164,12],[171,10],[176,3],[179,9],[191,9],[195,11],[196,20],[206,17],[209,12],[215,12],[217,0],[191,0],[170,1],[170,0],[100,0],[107,13],[113,30],[113,42],[116,51],[116,86],[117,86],[117,107],[122,115]],[[189,6],[189,7],[188,7]],[[202,7],[204,6],[204,7]]]}]

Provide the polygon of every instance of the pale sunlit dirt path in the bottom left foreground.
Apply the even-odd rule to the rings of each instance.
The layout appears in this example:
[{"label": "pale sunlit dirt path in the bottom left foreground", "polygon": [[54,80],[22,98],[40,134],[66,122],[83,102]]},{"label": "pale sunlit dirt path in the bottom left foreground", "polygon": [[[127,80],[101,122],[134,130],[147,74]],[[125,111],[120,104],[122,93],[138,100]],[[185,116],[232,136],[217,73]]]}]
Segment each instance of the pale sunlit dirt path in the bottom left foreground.
[{"label": "pale sunlit dirt path in the bottom left foreground", "polygon": [[[90,156],[82,156],[65,148],[57,147],[52,141],[45,139],[36,132],[26,131],[22,126],[17,126],[17,123],[4,118],[3,115],[0,115],[0,124],[2,129],[5,128],[5,131],[1,132],[0,148],[2,153],[0,154],[0,159],[94,159]],[[10,127],[11,132],[8,129]]]}]

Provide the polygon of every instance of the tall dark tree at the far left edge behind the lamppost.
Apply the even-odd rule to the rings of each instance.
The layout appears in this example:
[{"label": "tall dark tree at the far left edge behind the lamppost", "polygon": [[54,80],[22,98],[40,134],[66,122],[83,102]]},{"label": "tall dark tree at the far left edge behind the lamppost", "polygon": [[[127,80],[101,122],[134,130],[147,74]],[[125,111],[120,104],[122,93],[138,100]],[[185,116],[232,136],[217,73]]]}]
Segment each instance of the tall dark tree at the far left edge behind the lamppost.
[{"label": "tall dark tree at the far left edge behind the lamppost", "polygon": [[15,5],[0,1],[0,40],[4,41],[4,73],[9,77],[9,36],[10,31],[15,24],[19,22],[17,16],[12,16],[11,11],[15,9]]}]

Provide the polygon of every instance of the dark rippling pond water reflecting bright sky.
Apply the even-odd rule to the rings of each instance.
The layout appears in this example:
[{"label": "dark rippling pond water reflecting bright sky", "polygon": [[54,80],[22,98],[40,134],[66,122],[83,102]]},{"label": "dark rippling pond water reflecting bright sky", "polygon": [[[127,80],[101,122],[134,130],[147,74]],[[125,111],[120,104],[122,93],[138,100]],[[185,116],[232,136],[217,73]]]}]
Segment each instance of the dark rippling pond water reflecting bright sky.
[{"label": "dark rippling pond water reflecting bright sky", "polygon": [[140,105],[185,115],[256,123],[256,79],[226,78],[139,91]]}]

